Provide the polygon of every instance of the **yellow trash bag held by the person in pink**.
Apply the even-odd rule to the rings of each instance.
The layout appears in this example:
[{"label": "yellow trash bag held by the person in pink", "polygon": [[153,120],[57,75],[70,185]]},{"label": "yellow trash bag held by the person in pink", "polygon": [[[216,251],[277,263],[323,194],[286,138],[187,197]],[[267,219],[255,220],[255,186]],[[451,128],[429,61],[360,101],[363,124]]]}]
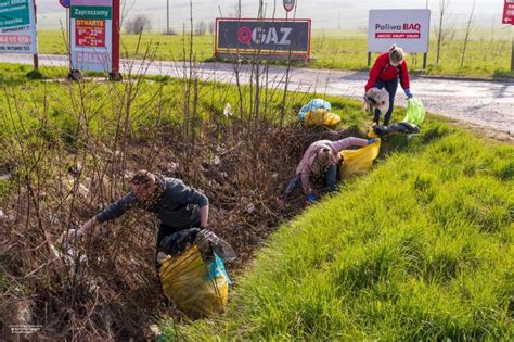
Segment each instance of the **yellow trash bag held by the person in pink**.
[{"label": "yellow trash bag held by the person in pink", "polygon": [[365,174],[373,165],[373,161],[378,156],[380,151],[381,139],[376,139],[372,144],[358,150],[340,151],[340,156],[343,157],[343,164],[340,165],[342,178]]}]

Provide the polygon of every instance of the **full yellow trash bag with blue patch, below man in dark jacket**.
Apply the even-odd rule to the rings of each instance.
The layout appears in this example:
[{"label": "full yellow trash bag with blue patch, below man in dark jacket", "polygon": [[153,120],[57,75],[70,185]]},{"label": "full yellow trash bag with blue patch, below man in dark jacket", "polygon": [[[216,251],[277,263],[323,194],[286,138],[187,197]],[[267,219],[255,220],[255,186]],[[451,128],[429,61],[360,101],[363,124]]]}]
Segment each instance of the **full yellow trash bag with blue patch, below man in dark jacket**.
[{"label": "full yellow trash bag with blue patch, below man in dark jacket", "polygon": [[168,256],[159,274],[164,295],[188,316],[205,317],[227,308],[230,279],[216,254],[207,264],[193,245],[181,255]]}]

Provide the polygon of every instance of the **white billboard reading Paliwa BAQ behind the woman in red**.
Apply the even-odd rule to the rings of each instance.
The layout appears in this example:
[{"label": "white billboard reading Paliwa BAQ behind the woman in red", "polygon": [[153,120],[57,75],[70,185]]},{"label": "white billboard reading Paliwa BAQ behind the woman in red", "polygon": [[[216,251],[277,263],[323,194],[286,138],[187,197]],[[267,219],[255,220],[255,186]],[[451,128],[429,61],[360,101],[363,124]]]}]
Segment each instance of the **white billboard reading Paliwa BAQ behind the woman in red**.
[{"label": "white billboard reading Paliwa BAQ behind the woman in red", "polygon": [[368,52],[396,43],[406,52],[428,52],[431,10],[370,10]]}]

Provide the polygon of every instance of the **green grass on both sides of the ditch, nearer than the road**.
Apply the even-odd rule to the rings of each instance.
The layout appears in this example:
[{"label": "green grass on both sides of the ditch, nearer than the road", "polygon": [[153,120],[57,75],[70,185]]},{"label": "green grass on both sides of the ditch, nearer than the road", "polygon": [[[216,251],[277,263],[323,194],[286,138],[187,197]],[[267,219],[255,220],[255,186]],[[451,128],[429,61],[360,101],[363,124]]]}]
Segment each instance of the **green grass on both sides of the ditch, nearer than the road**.
[{"label": "green grass on both sides of the ditch, nearer than the road", "polygon": [[[35,144],[60,140],[73,149],[77,119],[87,119],[95,139],[115,139],[124,99],[105,102],[106,93],[126,84],[83,84],[87,101],[78,112],[87,115],[77,117],[78,86],[28,80],[28,71],[0,65],[0,105],[5,111],[7,100],[15,100],[22,113],[12,122],[2,116],[0,140],[21,128]],[[181,81],[157,80],[141,80],[130,109],[133,138],[152,137],[157,118],[180,123]],[[311,97],[292,94],[286,121]],[[200,116],[221,124],[224,105],[237,99],[233,86],[214,84],[201,84],[198,98]],[[280,100],[281,92],[270,98],[269,115]],[[362,129],[371,121],[358,101],[327,100],[342,127]],[[396,119],[403,116],[403,109],[395,111]],[[429,116],[422,135],[389,139],[383,151],[368,176],[345,181],[337,195],[271,236],[235,279],[224,316],[165,324],[163,339],[512,340],[514,148]],[[9,162],[4,152],[0,166]]]}]

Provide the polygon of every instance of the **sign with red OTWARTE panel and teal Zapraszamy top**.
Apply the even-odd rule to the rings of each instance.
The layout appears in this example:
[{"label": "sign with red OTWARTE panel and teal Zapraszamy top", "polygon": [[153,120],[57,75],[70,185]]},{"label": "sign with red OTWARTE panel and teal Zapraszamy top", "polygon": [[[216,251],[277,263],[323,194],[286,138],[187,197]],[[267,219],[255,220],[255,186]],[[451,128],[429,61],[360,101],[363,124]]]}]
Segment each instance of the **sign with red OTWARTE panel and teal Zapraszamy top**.
[{"label": "sign with red OTWARTE panel and teal Zapraszamy top", "polygon": [[70,0],[69,4],[72,69],[117,73],[119,0]]}]

